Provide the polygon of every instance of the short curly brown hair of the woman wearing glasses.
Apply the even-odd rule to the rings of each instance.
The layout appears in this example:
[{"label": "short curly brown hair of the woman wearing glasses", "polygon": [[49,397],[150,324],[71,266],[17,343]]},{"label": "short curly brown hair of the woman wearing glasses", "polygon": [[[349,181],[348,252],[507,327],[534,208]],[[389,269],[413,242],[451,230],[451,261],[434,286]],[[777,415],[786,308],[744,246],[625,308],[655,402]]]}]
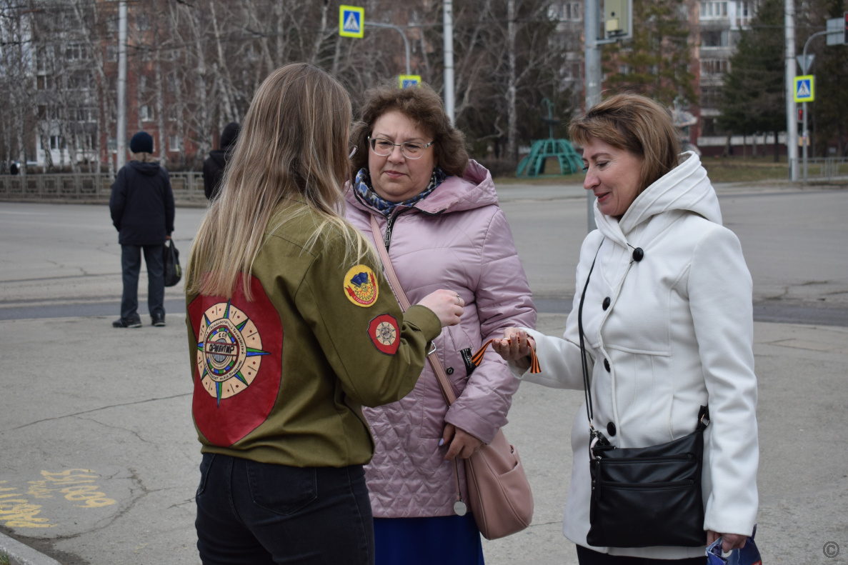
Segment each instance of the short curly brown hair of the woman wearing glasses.
[{"label": "short curly brown hair of the woman wearing glasses", "polygon": [[432,136],[436,165],[442,171],[450,176],[462,176],[468,165],[466,137],[451,125],[442,98],[423,83],[418,87],[398,88],[387,82],[365,92],[360,121],[354,124],[350,134],[351,143],[356,146],[351,159],[354,171],[368,166],[368,136],[380,116],[391,110],[398,110]]}]

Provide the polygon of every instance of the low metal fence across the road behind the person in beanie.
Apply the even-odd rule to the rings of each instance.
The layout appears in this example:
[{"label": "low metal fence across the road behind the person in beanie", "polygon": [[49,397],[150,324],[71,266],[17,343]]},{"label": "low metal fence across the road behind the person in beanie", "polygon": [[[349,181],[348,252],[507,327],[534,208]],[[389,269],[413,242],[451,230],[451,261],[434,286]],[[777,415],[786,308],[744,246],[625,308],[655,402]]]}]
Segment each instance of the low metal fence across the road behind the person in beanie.
[{"label": "low metal fence across the road behind the person in beanie", "polygon": [[[202,202],[203,175],[198,172],[172,172],[170,186],[174,199]],[[0,199],[47,201],[109,201],[112,178],[97,173],[0,175]]]}]

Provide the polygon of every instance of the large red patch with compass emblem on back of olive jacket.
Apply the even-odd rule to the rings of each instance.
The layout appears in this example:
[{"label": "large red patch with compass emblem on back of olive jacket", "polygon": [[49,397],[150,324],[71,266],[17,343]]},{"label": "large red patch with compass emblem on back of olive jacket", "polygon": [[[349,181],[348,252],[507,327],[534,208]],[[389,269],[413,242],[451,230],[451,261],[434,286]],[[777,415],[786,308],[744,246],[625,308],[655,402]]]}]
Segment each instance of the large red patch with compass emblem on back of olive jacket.
[{"label": "large red patch with compass emblem on back of olive jacket", "polygon": [[200,433],[222,447],[265,422],[280,390],[280,315],[258,278],[250,290],[248,302],[238,277],[232,299],[201,295],[188,305],[198,341],[192,414]]}]

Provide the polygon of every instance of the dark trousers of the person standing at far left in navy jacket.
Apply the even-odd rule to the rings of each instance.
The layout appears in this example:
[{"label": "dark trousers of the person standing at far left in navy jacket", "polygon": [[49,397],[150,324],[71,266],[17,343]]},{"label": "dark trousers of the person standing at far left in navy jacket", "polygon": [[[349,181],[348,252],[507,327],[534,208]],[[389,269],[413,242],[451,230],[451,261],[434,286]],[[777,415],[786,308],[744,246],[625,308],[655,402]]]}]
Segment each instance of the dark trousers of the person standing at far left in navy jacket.
[{"label": "dark trousers of the person standing at far left in navy jacket", "polygon": [[138,316],[138,273],[144,263],[148,266],[148,312],[150,316],[165,316],[165,260],[163,245],[121,245],[120,269],[124,273],[124,295],[120,299],[120,317]]}]

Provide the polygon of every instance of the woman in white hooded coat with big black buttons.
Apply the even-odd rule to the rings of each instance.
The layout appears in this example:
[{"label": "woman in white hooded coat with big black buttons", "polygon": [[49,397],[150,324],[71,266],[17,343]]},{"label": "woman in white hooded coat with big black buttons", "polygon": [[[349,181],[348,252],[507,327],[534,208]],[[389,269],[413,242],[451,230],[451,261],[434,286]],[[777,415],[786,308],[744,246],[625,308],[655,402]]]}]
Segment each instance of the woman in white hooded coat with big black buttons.
[{"label": "woman in white hooded coat with big black buttons", "polygon": [[[691,434],[709,406],[702,486],[707,543],[745,544],[757,509],[751,278],[739,239],[722,227],[718,199],[694,153],[678,155],[667,110],[619,94],[571,126],[583,145],[583,187],[597,197],[598,229],[583,241],[577,292],[563,338],[508,328],[494,349],[518,378],[583,389],[577,312],[589,361],[594,427],[619,448]],[[541,372],[530,373],[530,348]],[[704,547],[595,547],[589,532],[586,405],[572,426],[572,482],[563,533],[586,563],[630,558],[706,562]]]}]

